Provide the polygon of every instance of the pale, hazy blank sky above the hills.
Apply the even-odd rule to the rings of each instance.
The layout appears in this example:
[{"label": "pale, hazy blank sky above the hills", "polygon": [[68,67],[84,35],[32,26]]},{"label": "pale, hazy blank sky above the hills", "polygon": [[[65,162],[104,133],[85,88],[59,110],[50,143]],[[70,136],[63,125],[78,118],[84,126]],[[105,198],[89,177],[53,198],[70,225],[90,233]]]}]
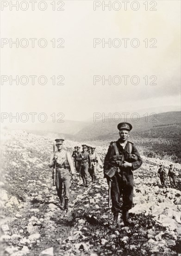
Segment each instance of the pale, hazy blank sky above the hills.
[{"label": "pale, hazy blank sky above the hills", "polygon": [[[64,11],[53,11],[52,2],[55,9],[61,8],[58,1],[46,1],[45,11],[37,4],[32,11],[30,3],[26,11],[21,10],[25,6],[20,4],[18,11],[13,7],[11,11],[10,6],[1,11],[1,38],[5,42],[1,45],[1,112],[44,112],[49,118],[52,113],[61,112],[65,119],[83,121],[94,112],[122,113],[180,105],[179,0],[154,1],[156,11],[146,11],[144,1],[138,1],[137,11],[131,9],[131,1],[127,11],[122,1],[118,11],[114,10],[118,5],[102,10],[103,2],[108,1],[97,1],[100,7],[94,11],[92,0],[67,0]],[[151,7],[148,1],[148,8]],[[11,39],[17,38],[18,47],[11,47]],[[37,39],[34,48],[30,38]],[[37,44],[41,38],[47,41],[44,48]],[[64,40],[63,48],[57,47],[59,38]],[[94,46],[94,38],[100,44]],[[127,47],[123,38],[129,39]],[[103,39],[110,40],[111,46],[103,47]],[[21,47],[27,41],[28,47]],[[133,47],[137,42],[139,46]],[[35,78],[32,85],[31,75],[46,76],[47,84],[41,85]],[[122,77],[125,75],[129,76],[127,84]],[[29,82],[24,85],[19,79],[18,85],[13,81],[11,85],[10,76],[27,76]],[[64,85],[53,85],[53,76],[63,76]],[[94,76],[100,80],[95,84]],[[103,84],[103,76],[111,77],[111,84]],[[137,85],[132,84],[137,82],[136,78],[131,80],[132,76],[139,78]],[[150,84],[154,79],[156,85]]]}]

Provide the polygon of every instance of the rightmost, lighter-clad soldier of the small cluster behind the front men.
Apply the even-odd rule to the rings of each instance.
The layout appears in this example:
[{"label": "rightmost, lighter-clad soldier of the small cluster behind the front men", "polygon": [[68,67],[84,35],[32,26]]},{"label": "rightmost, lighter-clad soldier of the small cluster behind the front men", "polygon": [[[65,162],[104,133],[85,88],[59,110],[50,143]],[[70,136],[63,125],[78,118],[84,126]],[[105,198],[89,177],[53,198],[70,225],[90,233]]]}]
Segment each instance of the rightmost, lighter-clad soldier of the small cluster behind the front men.
[{"label": "rightmost, lighter-clad soldier of the small cluster behind the front men", "polygon": [[102,162],[100,160],[99,155],[96,155],[95,147],[91,147],[90,158],[91,158],[91,163],[92,163],[91,170],[90,170],[90,175],[92,177],[92,182],[95,182],[95,180],[97,179],[97,166],[98,166],[98,163],[100,165],[100,168],[102,168]]}]

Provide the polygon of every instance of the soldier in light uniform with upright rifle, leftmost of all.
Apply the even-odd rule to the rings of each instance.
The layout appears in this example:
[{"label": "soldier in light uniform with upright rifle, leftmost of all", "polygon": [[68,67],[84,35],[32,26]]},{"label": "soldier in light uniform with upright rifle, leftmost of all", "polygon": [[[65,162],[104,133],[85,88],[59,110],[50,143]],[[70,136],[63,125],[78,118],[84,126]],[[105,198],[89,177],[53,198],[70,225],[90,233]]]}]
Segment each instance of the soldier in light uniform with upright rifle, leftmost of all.
[{"label": "soldier in light uniform with upright rifle, leftmost of all", "polygon": [[57,150],[51,155],[50,162],[48,166],[51,168],[56,165],[56,191],[57,195],[62,202],[62,188],[63,188],[63,197],[64,197],[64,210],[68,211],[69,203],[69,186],[70,186],[70,173],[69,167],[72,174],[72,179],[75,178],[75,170],[72,158],[63,146],[63,139],[56,139]]}]

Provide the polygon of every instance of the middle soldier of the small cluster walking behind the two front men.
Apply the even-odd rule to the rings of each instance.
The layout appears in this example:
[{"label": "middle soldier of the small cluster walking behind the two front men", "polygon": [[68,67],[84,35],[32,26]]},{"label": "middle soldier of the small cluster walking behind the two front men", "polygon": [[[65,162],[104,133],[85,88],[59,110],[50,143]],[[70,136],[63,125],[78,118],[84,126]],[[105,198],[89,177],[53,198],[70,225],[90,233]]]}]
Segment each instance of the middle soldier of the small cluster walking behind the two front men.
[{"label": "middle soldier of the small cluster walking behind the two front men", "polygon": [[81,165],[80,176],[83,181],[83,186],[88,187],[88,168],[91,167],[90,155],[87,152],[87,146],[82,145],[82,152],[77,155],[77,161]]}]

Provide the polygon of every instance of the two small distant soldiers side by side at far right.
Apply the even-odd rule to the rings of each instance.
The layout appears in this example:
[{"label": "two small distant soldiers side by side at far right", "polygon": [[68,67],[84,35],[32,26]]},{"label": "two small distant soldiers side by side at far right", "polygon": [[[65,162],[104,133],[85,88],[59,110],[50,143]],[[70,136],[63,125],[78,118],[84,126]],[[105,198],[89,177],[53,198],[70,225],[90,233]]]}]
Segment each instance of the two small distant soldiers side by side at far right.
[{"label": "two small distant soldiers side by side at far right", "polygon": [[[158,177],[160,178],[160,182],[162,184],[162,186],[165,185],[165,178],[167,175],[167,171],[163,168],[163,165],[160,165],[160,168],[158,169]],[[169,176],[169,180],[170,180],[170,185],[175,186],[175,175],[176,175],[176,171],[173,168],[173,164],[170,164],[170,168],[169,168],[169,172],[168,172],[168,176]]]}]

